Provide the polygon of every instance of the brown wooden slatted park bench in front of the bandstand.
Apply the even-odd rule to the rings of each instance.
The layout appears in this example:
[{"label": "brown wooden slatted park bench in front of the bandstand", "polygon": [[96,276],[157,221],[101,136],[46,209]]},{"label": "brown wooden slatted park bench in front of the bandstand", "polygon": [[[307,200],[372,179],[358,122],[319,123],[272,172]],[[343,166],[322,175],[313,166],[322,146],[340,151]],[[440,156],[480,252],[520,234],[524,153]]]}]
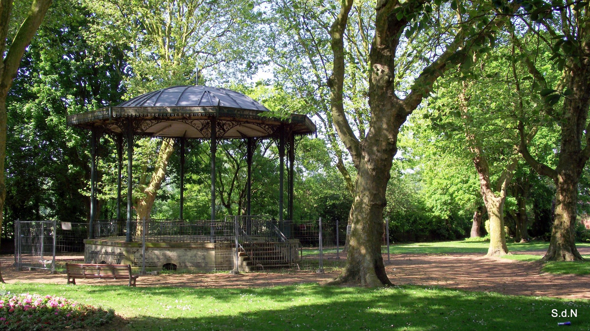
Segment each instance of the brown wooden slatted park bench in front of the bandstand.
[{"label": "brown wooden slatted park bench in front of the bandstand", "polygon": [[[86,279],[129,279],[129,286],[136,286],[139,274],[131,274],[130,264],[65,263],[68,284],[76,285],[76,278]],[[70,280],[71,279],[71,280]]]}]

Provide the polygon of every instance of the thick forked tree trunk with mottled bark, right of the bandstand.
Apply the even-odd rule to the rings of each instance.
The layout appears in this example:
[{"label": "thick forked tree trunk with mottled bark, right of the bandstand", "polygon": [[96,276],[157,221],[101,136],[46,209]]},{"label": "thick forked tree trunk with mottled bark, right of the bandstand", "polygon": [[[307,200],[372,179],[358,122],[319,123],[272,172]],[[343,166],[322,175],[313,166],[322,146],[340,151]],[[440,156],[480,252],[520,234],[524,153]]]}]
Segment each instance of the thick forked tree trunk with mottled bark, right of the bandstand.
[{"label": "thick forked tree trunk with mottled bark, right of the bandstand", "polygon": [[[330,111],[340,140],[348,149],[358,170],[355,194],[350,208],[348,259],[342,273],[332,284],[352,283],[363,286],[389,285],[381,255],[385,188],[389,181],[393,157],[397,151],[399,127],[427,97],[432,83],[448,69],[448,59],[463,45],[463,28],[442,54],[425,67],[404,99],[395,94],[396,49],[411,13],[422,10],[421,1],[379,1],[376,5],[375,36],[369,55],[369,107],[371,122],[366,137],[359,141],[352,130],[343,107],[345,53],[343,35],[346,31],[352,0],[343,0],[342,8],[330,29],[334,52],[330,87]],[[398,16],[398,12],[405,15]]]}]

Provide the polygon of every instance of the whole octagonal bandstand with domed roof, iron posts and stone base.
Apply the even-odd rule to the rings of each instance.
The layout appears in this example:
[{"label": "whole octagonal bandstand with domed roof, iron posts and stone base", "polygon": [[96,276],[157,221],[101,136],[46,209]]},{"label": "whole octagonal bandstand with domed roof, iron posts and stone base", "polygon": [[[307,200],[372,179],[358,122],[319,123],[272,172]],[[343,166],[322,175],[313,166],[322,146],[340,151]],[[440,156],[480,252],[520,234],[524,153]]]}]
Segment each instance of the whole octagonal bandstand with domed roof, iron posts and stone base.
[{"label": "whole octagonal bandstand with domed roof, iron posts and stone base", "polygon": [[[87,263],[129,263],[150,269],[240,270],[293,264],[296,240],[289,239],[286,221],[293,217],[293,163],[297,136],[316,126],[306,115],[273,118],[259,102],[239,92],[207,86],[176,86],[149,92],[114,107],[70,115],[68,125],[91,133],[90,227],[85,241]],[[100,135],[117,143],[117,219],[97,220],[96,157]],[[178,220],[137,220],[133,216],[133,145],[136,138],[175,138],[181,165]],[[185,144],[211,140],[211,219],[183,217]],[[215,153],[219,140],[246,140],[247,196],[244,216],[215,215]],[[280,159],[278,215],[251,215],[253,153],[261,140],[276,142]],[[127,151],[127,217],[122,217],[122,166]],[[288,161],[287,214],[284,215],[284,168]],[[287,234],[287,236],[285,235]]]}]

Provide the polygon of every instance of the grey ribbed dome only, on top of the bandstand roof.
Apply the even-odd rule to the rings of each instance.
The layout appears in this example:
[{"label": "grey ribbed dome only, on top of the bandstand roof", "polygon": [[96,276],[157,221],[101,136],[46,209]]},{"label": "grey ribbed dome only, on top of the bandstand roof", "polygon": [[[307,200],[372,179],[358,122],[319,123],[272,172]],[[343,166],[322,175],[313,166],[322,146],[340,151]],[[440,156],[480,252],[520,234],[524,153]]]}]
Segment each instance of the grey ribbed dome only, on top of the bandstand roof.
[{"label": "grey ribbed dome only, on top of the bandstand roof", "polygon": [[260,102],[239,92],[204,85],[184,85],[139,95],[117,107],[232,107],[268,111]]}]

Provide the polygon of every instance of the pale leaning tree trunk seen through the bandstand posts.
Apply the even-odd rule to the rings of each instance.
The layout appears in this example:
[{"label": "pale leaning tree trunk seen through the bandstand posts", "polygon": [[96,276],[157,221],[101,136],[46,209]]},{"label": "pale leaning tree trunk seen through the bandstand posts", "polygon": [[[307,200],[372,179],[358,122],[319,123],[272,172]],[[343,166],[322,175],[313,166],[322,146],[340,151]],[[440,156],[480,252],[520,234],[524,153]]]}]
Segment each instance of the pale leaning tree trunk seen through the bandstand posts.
[{"label": "pale leaning tree trunk seen through the bandstand posts", "polygon": [[[160,189],[160,184],[166,176],[166,167],[168,167],[168,161],[174,151],[174,140],[172,138],[162,139],[162,145],[160,146],[160,152],[158,153],[158,159],[156,160],[156,167],[153,170],[152,179],[149,182],[148,187],[143,189],[145,196],[136,200],[135,210],[137,211],[137,221],[142,219],[149,219],[152,213],[153,203],[156,200],[156,195]],[[137,234],[142,234],[142,227],[137,226]]]}]

